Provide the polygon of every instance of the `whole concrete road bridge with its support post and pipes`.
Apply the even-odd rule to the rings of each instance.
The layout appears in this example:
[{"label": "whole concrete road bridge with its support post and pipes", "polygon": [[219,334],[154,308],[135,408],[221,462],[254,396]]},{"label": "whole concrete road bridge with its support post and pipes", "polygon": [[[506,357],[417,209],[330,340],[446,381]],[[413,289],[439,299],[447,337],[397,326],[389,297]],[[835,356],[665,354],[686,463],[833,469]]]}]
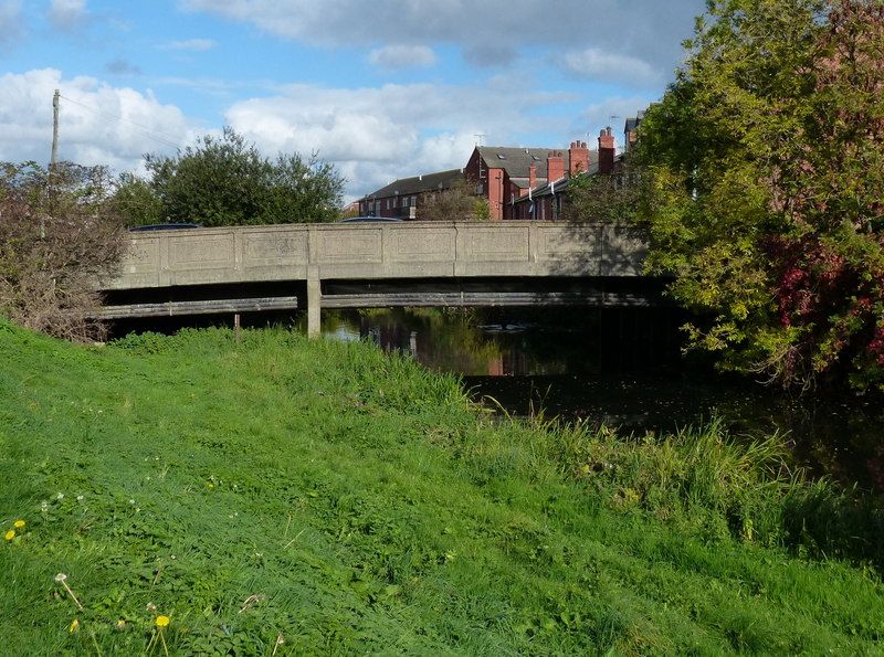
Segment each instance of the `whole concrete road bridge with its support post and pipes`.
[{"label": "whole concrete road bridge with its support post and pipes", "polygon": [[108,319],[396,306],[641,306],[632,227],[550,222],[290,224],[131,233]]}]

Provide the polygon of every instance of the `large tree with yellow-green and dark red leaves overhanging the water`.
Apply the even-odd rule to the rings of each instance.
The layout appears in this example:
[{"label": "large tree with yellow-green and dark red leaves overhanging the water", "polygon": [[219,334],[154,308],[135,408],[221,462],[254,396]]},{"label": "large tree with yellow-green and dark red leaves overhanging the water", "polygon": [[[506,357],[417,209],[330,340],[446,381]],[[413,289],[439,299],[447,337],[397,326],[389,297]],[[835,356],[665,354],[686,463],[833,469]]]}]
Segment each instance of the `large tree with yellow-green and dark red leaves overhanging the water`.
[{"label": "large tree with yellow-green and dark red leaves overhanging the water", "polygon": [[652,272],[725,368],[884,386],[884,3],[711,0],[640,127]]}]

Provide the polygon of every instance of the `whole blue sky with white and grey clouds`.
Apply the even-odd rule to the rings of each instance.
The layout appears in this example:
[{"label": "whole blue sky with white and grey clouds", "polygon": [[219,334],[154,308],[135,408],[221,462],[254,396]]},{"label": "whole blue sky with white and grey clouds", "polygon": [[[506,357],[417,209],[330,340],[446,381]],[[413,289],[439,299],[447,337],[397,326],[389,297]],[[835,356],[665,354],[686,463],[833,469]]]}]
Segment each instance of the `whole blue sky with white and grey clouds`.
[{"label": "whole blue sky with white and grey clouds", "polygon": [[[0,0],[0,160],[143,170],[232,126],[347,199],[486,145],[594,144],[659,98],[703,0]],[[481,137],[477,137],[481,135]]]}]

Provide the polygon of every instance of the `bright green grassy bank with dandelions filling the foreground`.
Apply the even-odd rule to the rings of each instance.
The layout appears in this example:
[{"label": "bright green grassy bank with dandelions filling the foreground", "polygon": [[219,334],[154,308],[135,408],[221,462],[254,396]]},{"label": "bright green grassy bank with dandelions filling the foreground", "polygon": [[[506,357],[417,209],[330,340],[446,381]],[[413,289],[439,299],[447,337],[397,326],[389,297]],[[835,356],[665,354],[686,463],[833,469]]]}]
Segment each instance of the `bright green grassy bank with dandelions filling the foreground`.
[{"label": "bright green grassy bank with dandelions filling the foreground", "polygon": [[453,378],[283,331],[0,322],[0,363],[4,654],[160,655],[148,604],[171,654],[881,651],[877,572],[783,549],[804,487],[720,427],[497,423]]}]

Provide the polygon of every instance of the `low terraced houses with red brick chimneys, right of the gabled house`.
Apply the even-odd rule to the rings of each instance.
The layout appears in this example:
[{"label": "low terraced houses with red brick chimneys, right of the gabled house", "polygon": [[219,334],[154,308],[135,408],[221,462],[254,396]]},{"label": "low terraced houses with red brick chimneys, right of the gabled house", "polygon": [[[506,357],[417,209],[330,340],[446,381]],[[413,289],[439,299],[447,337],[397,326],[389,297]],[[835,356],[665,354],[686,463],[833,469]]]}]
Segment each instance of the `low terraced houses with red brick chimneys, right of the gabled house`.
[{"label": "low terraced houses with red brick chimneys, right of the gabled house", "polygon": [[[575,147],[573,142],[571,148]],[[586,144],[580,142],[583,148]],[[586,169],[569,170],[565,174],[562,153],[550,151],[547,155],[547,170],[552,176],[543,184],[528,189],[512,203],[511,219],[534,219],[540,221],[557,221],[562,218],[562,210],[568,201],[568,183],[576,176],[608,176],[617,173],[621,167],[622,156],[617,155],[617,146],[611,128],[606,128],[599,135],[599,148],[590,158]]]}]

